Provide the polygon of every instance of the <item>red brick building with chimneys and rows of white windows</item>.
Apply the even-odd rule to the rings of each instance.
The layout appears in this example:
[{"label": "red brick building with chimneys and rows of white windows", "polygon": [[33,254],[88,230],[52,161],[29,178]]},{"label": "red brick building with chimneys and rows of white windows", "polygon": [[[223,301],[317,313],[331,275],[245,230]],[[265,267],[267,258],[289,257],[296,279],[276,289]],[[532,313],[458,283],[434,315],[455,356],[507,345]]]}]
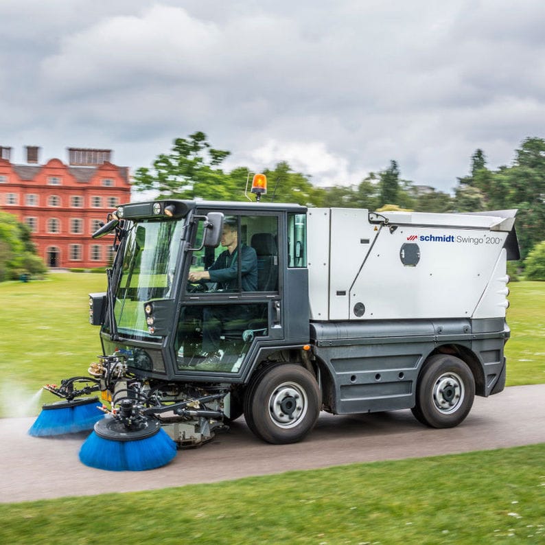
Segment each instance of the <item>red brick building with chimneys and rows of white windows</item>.
[{"label": "red brick building with chimneys and rows of white windows", "polygon": [[91,234],[106,214],[130,201],[128,167],[110,162],[111,150],[69,148],[69,164],[50,159],[38,165],[38,148],[25,148],[26,163],[11,163],[0,147],[0,209],[32,231],[48,267],[94,268],[111,259],[113,237]]}]

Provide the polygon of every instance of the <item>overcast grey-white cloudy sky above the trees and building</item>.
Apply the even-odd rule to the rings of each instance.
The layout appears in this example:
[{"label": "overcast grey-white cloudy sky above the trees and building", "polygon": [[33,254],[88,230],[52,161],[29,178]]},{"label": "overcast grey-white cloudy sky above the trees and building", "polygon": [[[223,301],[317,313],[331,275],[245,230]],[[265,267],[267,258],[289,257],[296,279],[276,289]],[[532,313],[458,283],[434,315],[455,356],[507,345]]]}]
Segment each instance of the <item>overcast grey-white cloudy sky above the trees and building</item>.
[{"label": "overcast grey-white cloudy sky above the trees and building", "polygon": [[316,185],[450,191],[545,137],[543,0],[1,0],[0,146],[149,166],[196,130]]}]

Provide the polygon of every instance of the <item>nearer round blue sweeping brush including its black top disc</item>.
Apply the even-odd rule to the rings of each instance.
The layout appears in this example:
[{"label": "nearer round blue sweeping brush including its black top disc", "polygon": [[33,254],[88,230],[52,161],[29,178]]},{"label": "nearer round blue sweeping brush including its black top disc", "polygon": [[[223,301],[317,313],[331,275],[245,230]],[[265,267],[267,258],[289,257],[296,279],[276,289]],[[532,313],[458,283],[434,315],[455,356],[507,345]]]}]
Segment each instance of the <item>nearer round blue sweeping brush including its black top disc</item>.
[{"label": "nearer round blue sweeping brush including its black top disc", "polygon": [[80,449],[80,461],[108,471],[143,471],[169,463],[176,443],[154,417],[145,417],[142,428],[132,430],[115,417],[105,417]]}]

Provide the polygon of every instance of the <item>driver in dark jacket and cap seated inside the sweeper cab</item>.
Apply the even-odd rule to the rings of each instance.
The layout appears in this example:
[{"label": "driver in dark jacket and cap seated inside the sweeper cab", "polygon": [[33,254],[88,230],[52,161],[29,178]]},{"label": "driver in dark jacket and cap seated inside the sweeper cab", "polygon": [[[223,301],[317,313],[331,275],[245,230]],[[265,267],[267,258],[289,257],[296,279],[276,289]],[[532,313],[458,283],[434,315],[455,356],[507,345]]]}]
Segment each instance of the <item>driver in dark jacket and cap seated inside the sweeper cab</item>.
[{"label": "driver in dark jacket and cap seated inside the sweeper cab", "polygon": [[[254,248],[238,244],[237,221],[224,222],[221,245],[225,249],[207,269],[189,272],[190,282],[217,282],[221,290],[238,291],[238,253],[240,252],[240,275],[242,291],[257,291],[257,254]],[[209,305],[202,309],[202,352],[205,360],[198,369],[217,370],[220,364],[220,335],[222,323],[235,319],[251,318],[251,305]]]}]

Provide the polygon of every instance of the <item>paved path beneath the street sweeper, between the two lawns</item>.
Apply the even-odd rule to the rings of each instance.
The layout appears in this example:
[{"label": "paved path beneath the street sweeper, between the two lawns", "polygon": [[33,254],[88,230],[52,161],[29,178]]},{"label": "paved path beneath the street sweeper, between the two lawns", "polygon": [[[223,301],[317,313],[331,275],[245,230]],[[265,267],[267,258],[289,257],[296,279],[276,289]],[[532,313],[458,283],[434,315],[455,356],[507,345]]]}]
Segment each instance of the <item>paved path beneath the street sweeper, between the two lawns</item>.
[{"label": "paved path beneath the street sweeper, between the two lawns", "polygon": [[450,430],[421,426],[408,410],[374,415],[323,414],[302,443],[268,445],[236,421],[202,448],[178,452],[148,472],[106,472],[80,463],[86,434],[35,438],[32,418],[0,419],[1,502],[100,492],[126,492],[313,469],[354,462],[402,459],[545,443],[545,384],[512,386],[476,397],[463,424]]}]

